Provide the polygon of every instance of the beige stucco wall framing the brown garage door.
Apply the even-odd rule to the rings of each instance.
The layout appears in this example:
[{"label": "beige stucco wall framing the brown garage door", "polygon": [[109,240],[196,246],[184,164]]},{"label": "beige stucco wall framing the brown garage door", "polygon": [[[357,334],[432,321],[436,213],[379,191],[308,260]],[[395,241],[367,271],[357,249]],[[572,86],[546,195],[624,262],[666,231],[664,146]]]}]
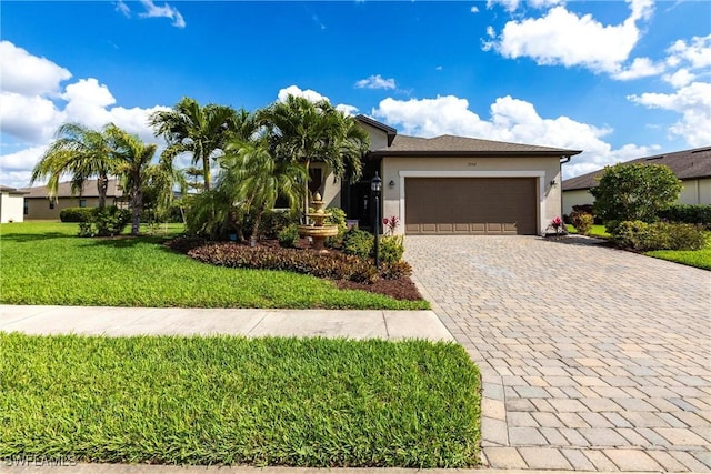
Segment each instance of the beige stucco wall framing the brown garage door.
[{"label": "beige stucco wall framing the brown garage door", "polygon": [[[535,178],[538,189],[538,232],[561,214],[559,158],[438,158],[385,157],[382,162],[383,215],[397,215],[405,228],[404,179],[420,178]],[[390,186],[389,183],[394,185]],[[555,181],[551,185],[551,181]]]}]

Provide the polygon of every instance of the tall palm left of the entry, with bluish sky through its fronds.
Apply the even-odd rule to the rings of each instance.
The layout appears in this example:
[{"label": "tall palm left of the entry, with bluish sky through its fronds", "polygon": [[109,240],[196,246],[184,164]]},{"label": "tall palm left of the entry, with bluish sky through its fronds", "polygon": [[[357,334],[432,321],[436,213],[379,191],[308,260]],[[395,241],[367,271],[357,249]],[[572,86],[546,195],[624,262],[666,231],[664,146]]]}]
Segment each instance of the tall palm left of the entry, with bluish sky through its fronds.
[{"label": "tall palm left of the entry, with bluish sky through its fronds", "polygon": [[163,135],[168,148],[162,157],[173,160],[181,153],[191,153],[192,163],[202,164],[204,190],[212,185],[211,160],[220,154],[233,129],[240,125],[234,109],[226,105],[201,107],[194,99],[182,98],[172,110],[151,114],[149,123],[156,135]]}]

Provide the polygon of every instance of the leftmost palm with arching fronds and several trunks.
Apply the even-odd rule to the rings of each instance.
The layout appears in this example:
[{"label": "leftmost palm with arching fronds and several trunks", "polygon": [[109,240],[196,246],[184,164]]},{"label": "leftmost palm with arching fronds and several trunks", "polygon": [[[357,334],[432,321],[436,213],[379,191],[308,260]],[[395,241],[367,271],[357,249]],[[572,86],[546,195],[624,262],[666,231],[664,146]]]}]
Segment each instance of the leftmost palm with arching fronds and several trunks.
[{"label": "leftmost palm with arching fronds and several trunks", "polygon": [[98,131],[79,123],[64,123],[57,130],[56,137],[57,140],[34,165],[30,185],[49,177],[48,195],[57,199],[62,175],[71,174],[72,195],[81,195],[84,182],[96,177],[99,208],[104,208],[109,177],[117,165],[106,129]]}]

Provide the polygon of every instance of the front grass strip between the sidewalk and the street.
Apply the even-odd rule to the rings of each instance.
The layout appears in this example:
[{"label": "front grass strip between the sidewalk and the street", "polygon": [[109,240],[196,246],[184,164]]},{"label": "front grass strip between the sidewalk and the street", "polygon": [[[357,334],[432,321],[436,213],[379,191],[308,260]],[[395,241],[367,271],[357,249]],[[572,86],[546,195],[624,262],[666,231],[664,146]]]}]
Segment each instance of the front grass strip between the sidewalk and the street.
[{"label": "front grass strip between the sidewalk and the street", "polygon": [[0,333],[0,458],[477,464],[480,376],[452,343]]}]

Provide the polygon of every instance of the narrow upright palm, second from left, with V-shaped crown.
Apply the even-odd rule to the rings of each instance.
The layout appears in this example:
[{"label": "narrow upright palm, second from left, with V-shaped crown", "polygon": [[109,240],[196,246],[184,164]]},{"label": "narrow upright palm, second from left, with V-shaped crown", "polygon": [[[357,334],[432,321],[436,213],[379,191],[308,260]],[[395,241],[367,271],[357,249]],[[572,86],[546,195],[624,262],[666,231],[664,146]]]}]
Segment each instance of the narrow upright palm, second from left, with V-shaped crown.
[{"label": "narrow upright palm, second from left, with V-shaped crown", "polygon": [[107,125],[106,134],[111,144],[111,153],[116,157],[116,173],[121,177],[121,185],[129,195],[131,235],[138,235],[143,209],[143,186],[150,175],[149,167],[156,155],[157,145],[143,143],[137,135],[119,129],[113,123]]}]

